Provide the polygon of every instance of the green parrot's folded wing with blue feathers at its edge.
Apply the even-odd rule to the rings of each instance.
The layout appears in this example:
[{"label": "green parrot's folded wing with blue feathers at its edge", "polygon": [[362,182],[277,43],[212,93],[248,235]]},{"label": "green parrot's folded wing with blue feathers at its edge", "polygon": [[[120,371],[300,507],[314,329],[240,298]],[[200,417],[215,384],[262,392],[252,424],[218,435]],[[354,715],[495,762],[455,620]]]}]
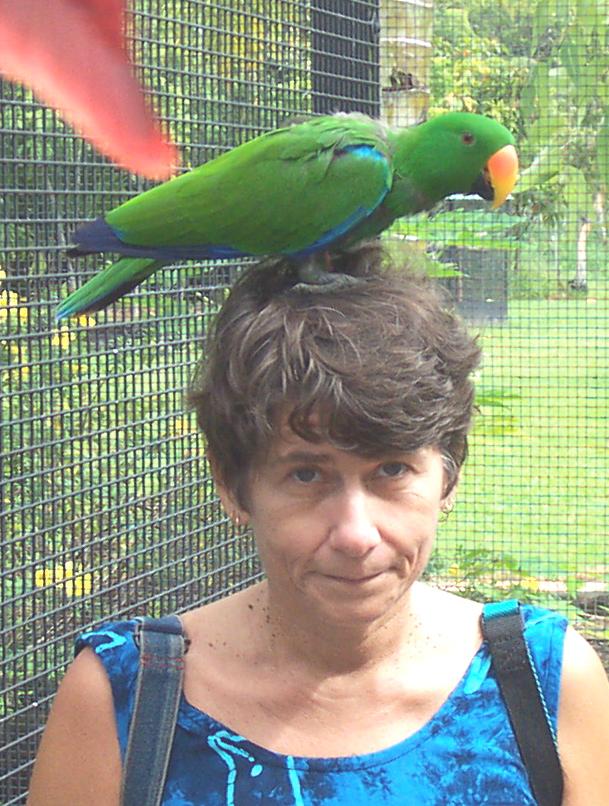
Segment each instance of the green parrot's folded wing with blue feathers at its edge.
[{"label": "green parrot's folded wing with blue feathers at its edge", "polygon": [[263,134],[105,217],[133,246],[291,254],[335,240],[391,187],[381,125],[335,115]]}]

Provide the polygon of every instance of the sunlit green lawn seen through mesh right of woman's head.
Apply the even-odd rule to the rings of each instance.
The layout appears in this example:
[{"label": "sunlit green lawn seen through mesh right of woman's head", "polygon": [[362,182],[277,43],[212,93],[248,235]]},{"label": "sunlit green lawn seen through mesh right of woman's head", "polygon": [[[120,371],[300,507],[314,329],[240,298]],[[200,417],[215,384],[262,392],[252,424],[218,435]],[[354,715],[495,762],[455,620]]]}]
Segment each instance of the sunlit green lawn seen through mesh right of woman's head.
[{"label": "sunlit green lawn seen through mesh right of woman's head", "polygon": [[534,577],[609,582],[607,296],[510,302],[507,324],[480,332],[478,386],[503,405],[482,406],[444,565],[482,549]]}]

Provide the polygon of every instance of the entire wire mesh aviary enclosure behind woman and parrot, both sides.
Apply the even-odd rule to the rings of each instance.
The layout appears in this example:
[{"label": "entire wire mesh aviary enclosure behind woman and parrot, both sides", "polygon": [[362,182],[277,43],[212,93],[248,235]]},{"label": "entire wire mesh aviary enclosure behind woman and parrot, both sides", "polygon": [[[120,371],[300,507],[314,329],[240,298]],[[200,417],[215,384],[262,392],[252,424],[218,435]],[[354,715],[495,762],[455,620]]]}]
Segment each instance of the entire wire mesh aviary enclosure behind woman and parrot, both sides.
[{"label": "entire wire mesh aviary enclosure behind woman and parrot, both sides", "polygon": [[[480,333],[480,415],[429,576],[609,637],[609,5],[605,0],[133,0],[138,70],[186,168],[294,115],[496,117],[522,174],[387,236]],[[74,637],[260,574],[215,495],[183,391],[242,268],[174,265],[94,317],[56,304],[103,265],[75,226],[146,185],[1,84],[0,802],[22,803]]]}]

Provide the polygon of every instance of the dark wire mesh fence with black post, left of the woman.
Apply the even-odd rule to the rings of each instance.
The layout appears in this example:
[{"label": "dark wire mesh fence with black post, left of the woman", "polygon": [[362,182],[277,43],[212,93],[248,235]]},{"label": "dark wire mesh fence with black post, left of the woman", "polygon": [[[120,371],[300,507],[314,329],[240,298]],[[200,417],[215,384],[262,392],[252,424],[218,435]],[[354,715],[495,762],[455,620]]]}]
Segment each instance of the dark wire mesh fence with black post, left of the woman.
[{"label": "dark wire mesh fence with black post, left of the woman", "polygon": [[[194,166],[303,113],[378,113],[374,2],[132,6],[136,63]],[[57,327],[100,266],[79,222],[140,192],[22,88],[2,84],[2,768],[21,802],[57,679],[87,625],[183,609],[259,574],[218,506],[183,392],[235,262],[167,268]]]}]

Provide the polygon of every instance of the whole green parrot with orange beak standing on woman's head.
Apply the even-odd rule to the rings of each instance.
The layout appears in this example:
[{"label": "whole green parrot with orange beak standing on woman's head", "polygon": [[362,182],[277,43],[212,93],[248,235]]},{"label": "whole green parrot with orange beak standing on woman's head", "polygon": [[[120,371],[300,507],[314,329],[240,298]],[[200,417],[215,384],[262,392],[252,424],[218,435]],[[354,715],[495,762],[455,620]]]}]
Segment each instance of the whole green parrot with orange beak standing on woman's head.
[{"label": "whole green parrot with orange beak standing on woman's head", "polygon": [[287,124],[84,224],[69,254],[120,259],[65,299],[57,318],[97,311],[161,266],[188,258],[284,255],[301,283],[336,283],[332,253],[453,193],[502,204],[517,179],[514,138],[449,112],[393,131],[360,114]]}]

